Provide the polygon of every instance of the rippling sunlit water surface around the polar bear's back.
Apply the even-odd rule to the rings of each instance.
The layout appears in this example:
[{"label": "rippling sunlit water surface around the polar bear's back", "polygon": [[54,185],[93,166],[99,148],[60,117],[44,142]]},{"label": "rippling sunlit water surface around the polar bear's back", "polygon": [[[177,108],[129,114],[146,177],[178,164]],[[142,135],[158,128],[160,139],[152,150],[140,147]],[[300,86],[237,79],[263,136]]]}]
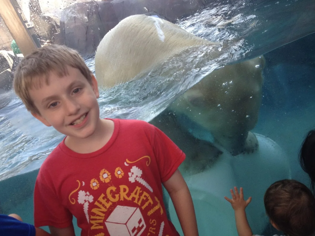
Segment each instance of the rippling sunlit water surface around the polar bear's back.
[{"label": "rippling sunlit water surface around the polar bear's back", "polygon": [[[207,9],[179,20],[178,25],[186,31],[209,41],[223,42],[216,57],[205,60],[205,54],[212,53],[206,48],[187,51],[188,59],[166,61],[140,81],[102,93],[101,116],[150,121],[219,66],[259,56],[313,32],[314,6],[313,1],[212,3]],[[86,61],[93,71],[93,55]],[[171,78],[157,76],[176,67],[186,70],[178,71]],[[34,119],[12,92],[2,96],[7,97],[4,100],[9,104],[0,110],[0,180],[23,169],[25,172],[38,168],[63,138],[53,128]]]}]

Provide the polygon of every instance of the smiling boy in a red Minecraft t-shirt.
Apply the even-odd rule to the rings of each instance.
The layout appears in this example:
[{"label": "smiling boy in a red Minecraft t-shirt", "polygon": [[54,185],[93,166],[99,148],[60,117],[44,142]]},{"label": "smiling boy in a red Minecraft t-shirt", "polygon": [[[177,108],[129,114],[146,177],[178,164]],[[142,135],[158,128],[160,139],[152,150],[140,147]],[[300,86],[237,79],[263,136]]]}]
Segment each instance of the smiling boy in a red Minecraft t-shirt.
[{"label": "smiling boy in a red Minecraft t-shirt", "polygon": [[35,226],[52,235],[178,235],[162,184],[185,235],[198,235],[192,198],[178,166],[185,154],[144,121],[100,119],[97,81],[79,54],[51,45],[26,56],[14,90],[27,110],[66,135],[47,157],[34,190]]}]

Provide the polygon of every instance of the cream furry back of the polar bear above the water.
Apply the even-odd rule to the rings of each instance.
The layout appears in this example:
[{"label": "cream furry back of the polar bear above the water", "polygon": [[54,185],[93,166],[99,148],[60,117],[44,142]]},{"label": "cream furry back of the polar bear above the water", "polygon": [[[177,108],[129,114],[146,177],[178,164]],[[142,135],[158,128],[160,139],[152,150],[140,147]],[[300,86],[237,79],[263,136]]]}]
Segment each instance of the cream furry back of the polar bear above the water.
[{"label": "cream furry back of the polar bear above the water", "polygon": [[214,45],[154,16],[132,15],[101,40],[95,53],[95,76],[101,87],[133,80],[191,46]]}]

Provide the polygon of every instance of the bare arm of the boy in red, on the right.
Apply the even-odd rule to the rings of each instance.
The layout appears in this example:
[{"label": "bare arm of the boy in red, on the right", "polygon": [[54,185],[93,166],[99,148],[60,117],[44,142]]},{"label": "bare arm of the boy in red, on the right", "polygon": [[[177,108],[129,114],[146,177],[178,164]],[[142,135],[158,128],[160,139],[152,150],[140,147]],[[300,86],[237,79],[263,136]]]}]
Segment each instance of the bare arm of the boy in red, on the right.
[{"label": "bare arm of the boy in red, on the right", "polygon": [[163,185],[172,199],[184,235],[197,236],[198,228],[192,197],[180,171],[177,169]]}]

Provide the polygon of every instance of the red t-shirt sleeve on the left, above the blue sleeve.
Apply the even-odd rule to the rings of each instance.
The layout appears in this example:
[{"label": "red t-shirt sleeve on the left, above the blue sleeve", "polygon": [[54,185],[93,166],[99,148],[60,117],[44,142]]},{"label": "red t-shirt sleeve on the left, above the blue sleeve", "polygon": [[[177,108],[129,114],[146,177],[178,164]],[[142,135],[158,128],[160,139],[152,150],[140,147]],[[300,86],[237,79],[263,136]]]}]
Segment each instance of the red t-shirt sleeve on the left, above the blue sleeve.
[{"label": "red t-shirt sleeve on the left, above the blue sleeve", "polygon": [[72,214],[61,204],[61,201],[59,200],[47,176],[49,176],[47,173],[42,173],[40,170],[35,183],[35,226],[66,228],[72,224]]}]

